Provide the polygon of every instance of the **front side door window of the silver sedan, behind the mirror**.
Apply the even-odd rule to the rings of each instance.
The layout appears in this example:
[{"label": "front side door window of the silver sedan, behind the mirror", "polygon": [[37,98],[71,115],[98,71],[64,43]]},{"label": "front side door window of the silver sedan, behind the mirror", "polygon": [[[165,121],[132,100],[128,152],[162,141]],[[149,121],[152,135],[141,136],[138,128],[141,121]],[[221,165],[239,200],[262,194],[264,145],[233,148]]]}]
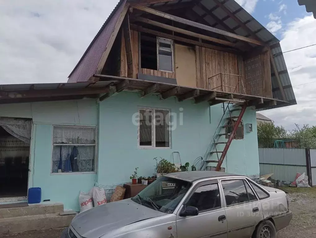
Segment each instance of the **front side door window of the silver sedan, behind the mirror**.
[{"label": "front side door window of the silver sedan, behind the mirror", "polygon": [[220,208],[221,197],[218,184],[198,187],[185,205],[196,207],[199,212]]}]

